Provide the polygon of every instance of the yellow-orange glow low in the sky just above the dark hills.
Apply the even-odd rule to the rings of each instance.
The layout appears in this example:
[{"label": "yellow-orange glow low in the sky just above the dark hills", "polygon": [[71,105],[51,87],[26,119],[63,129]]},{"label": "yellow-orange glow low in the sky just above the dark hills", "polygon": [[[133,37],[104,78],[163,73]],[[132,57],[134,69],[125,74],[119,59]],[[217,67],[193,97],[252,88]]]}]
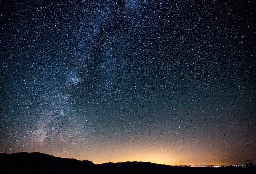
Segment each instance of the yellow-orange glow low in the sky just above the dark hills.
[{"label": "yellow-orange glow low in the sky just above the dark hills", "polygon": [[242,161],[232,161],[233,156],[221,154],[218,149],[207,149],[206,145],[191,147],[191,144],[187,144],[180,147],[177,143],[163,143],[164,145],[161,144],[161,146],[156,143],[142,144],[133,142],[118,146],[113,144],[84,145],[76,148],[70,147],[70,149],[56,148],[51,151],[42,149],[40,152],[65,158],[89,160],[95,164],[126,161],[143,161],[166,165],[243,164]]}]

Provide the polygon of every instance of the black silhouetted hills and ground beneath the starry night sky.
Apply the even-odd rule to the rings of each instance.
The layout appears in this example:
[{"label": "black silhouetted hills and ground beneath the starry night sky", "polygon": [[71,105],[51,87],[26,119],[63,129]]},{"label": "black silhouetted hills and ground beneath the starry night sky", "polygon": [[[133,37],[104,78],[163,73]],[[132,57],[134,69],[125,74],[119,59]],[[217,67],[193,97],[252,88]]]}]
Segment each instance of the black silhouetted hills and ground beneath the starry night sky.
[{"label": "black silhouetted hills and ground beneath the starry night sky", "polygon": [[176,167],[149,162],[94,164],[39,152],[0,153],[0,173],[256,173],[255,167]]}]

